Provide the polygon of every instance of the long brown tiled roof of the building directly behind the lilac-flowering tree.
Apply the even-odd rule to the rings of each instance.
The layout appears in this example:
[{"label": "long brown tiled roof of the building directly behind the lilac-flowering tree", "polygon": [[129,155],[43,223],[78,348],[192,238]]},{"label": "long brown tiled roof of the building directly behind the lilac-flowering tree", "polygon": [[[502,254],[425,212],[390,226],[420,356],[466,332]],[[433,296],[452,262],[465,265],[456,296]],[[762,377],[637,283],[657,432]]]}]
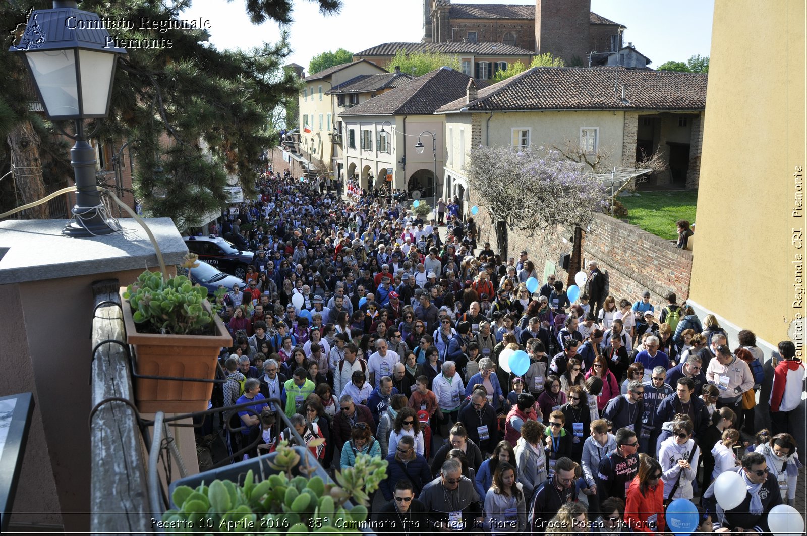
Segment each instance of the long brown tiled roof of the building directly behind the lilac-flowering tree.
[{"label": "long brown tiled roof of the building directly behind the lilac-flowering tree", "polygon": [[[437,113],[514,110],[704,110],[707,75],[621,67],[533,67]],[[625,101],[622,101],[625,86]]]}]

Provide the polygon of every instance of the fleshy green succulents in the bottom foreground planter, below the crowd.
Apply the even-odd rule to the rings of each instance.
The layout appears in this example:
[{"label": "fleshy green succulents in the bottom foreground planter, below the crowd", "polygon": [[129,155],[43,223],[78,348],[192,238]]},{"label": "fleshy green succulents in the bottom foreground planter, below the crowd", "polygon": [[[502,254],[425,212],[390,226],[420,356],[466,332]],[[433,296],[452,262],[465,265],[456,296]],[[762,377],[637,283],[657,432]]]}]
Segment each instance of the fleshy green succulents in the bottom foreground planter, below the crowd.
[{"label": "fleshy green succulents in the bottom foreground planter, below the crowd", "polygon": [[[178,486],[171,496],[177,508],[162,517],[166,532],[358,536],[359,524],[367,519],[367,494],[387,478],[387,462],[367,454],[358,454],[355,467],[337,471],[339,485],[303,476],[316,467],[307,459],[301,464],[300,455],[286,442],[278,444],[270,467],[279,472],[260,482],[250,470],[240,486],[219,479],[196,489]],[[303,475],[292,476],[295,467]],[[349,498],[359,504],[347,506]]]}]

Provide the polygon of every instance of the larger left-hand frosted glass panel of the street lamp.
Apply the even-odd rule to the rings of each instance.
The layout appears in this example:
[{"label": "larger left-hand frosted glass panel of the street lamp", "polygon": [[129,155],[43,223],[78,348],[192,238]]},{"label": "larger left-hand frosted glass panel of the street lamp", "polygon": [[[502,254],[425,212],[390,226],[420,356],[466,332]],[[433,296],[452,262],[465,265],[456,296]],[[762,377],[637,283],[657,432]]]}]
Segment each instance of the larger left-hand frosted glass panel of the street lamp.
[{"label": "larger left-hand frosted glass panel of the street lamp", "polygon": [[25,58],[42,94],[48,117],[79,115],[75,51],[71,48],[26,52]]}]

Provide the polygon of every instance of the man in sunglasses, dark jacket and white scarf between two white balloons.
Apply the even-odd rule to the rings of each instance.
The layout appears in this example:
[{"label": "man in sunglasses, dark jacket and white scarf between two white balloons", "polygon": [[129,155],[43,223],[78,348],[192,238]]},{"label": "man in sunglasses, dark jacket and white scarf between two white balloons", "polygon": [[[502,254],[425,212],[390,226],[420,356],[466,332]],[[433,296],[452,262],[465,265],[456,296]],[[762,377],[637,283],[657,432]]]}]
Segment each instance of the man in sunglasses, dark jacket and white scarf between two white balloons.
[{"label": "man in sunglasses, dark jacket and white scarf between two white balloons", "polygon": [[749,452],[742,457],[742,467],[732,472],[738,473],[745,484],[746,496],[733,509],[720,509],[714,496],[715,484],[704,492],[701,503],[706,513],[712,517],[712,530],[717,534],[747,532],[765,534],[770,532],[767,516],[776,505],[782,504],[782,495],[776,481],[776,472],[767,467],[765,457],[759,452]]}]

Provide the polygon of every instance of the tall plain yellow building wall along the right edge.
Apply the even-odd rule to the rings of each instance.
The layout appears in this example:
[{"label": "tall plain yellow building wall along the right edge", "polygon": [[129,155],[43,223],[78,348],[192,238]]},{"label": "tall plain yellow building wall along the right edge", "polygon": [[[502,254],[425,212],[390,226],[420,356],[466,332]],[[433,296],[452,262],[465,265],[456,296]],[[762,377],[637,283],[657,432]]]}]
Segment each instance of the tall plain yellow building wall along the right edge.
[{"label": "tall plain yellow building wall along the right edge", "polygon": [[805,2],[717,0],[713,21],[690,298],[802,350]]}]

